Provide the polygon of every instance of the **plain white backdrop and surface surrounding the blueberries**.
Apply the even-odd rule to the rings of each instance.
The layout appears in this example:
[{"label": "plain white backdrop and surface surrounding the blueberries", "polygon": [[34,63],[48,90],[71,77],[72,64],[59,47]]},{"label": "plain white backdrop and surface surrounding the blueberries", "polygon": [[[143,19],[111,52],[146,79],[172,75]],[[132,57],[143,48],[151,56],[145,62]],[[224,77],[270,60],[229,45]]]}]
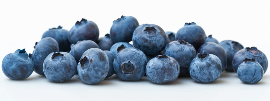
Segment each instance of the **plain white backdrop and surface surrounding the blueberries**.
[{"label": "plain white backdrop and surface surrounding the blueberries", "polygon": [[[32,53],[43,32],[58,25],[71,29],[77,20],[95,22],[100,37],[109,33],[112,21],[134,16],[139,24],[159,25],[177,32],[185,22],[195,22],[206,35],[235,40],[244,47],[256,46],[270,60],[269,1],[0,1],[0,59],[18,48]],[[1,63],[0,63],[1,64]],[[255,85],[241,83],[236,73],[223,72],[210,84],[178,78],[167,85],[151,83],[147,77],[136,82],[117,76],[97,85],[87,85],[76,75],[65,83],[52,83],[33,74],[14,81],[0,73],[0,100],[269,100],[270,70]]]}]

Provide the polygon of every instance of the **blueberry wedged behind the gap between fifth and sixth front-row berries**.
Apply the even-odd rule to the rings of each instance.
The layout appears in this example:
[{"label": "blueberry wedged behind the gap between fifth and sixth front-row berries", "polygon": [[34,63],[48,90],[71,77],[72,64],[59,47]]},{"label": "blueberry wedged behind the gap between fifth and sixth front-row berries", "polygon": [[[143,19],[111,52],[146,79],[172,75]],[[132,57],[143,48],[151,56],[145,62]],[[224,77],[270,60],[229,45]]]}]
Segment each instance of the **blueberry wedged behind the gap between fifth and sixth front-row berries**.
[{"label": "blueberry wedged behind the gap between fifth and sixth front-row berries", "polygon": [[180,66],[180,76],[188,76],[188,67],[196,57],[195,48],[184,40],[170,42],[165,46],[164,54],[175,58]]}]

